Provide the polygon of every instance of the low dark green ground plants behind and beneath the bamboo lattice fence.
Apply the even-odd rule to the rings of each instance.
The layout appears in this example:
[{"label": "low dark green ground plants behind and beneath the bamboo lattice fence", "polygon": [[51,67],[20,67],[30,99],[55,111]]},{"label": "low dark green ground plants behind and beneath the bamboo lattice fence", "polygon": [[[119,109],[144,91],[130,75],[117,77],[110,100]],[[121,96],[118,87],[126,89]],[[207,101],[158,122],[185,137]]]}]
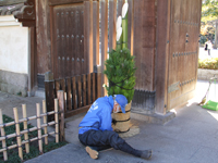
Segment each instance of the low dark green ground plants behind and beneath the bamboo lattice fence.
[{"label": "low dark green ground plants behind and beneath the bamboo lattice fence", "polygon": [[[9,122],[13,122],[13,121],[14,121],[13,118],[11,118],[7,115],[3,115],[3,123],[9,123]],[[31,124],[27,125],[27,128],[33,128],[33,127],[34,126],[32,126]],[[24,129],[23,124],[20,124],[20,129],[21,130]],[[5,131],[5,135],[14,134],[15,125],[4,127],[4,131]],[[44,134],[44,130],[41,130],[41,134]],[[28,133],[28,138],[29,139],[35,138],[35,137],[37,137],[37,135],[38,135],[37,130],[31,131],[31,133]],[[24,136],[22,136],[22,140],[24,140]],[[15,145],[15,143],[16,143],[16,137],[7,139],[7,147]],[[37,143],[38,143],[38,141],[35,141],[35,143],[31,142],[29,153],[25,152],[25,147],[23,146],[23,159],[24,160],[29,160],[29,159],[36,158],[40,154]],[[66,142],[56,143],[55,141],[52,141],[52,142],[49,142],[48,145],[43,145],[44,146],[43,149],[44,149],[44,152],[48,152],[50,150],[60,148],[64,145],[66,145]],[[0,142],[0,147],[2,147],[2,142]],[[1,152],[0,153],[0,163],[22,163],[22,160],[19,158],[17,148],[8,150],[8,158],[9,158],[9,160],[4,162],[3,153]]]}]

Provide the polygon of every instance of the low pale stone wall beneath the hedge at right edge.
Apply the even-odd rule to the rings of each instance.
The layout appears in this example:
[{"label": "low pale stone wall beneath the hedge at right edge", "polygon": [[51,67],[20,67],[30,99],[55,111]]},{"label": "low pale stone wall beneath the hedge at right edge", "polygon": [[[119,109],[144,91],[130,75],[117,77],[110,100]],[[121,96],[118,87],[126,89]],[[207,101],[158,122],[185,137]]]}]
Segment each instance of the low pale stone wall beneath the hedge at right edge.
[{"label": "low pale stone wall beneath the hedge at right edge", "polygon": [[218,78],[218,70],[197,70],[197,79],[209,80],[214,76]]}]

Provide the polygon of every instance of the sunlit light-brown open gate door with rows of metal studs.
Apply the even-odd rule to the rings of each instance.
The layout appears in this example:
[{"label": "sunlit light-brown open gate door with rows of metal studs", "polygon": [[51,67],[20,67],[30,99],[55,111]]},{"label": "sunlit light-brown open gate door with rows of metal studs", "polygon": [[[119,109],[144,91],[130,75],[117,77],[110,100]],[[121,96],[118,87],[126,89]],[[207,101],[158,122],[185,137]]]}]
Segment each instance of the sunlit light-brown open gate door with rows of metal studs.
[{"label": "sunlit light-brown open gate door with rows of metal studs", "polygon": [[195,92],[202,0],[171,0],[168,110]]}]

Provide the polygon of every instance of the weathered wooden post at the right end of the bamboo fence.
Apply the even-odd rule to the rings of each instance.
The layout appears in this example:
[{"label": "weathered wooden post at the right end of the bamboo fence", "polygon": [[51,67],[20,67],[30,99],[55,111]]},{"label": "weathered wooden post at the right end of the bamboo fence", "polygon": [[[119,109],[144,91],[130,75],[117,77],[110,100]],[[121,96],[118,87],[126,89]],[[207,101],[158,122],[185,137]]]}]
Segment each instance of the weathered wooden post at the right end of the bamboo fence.
[{"label": "weathered wooden post at the right end of the bamboo fence", "polygon": [[59,111],[61,112],[61,116],[60,116],[60,141],[64,141],[65,140],[65,136],[64,136],[64,95],[63,95],[63,90],[59,90],[57,92],[57,98],[58,98],[58,102],[59,102]]}]

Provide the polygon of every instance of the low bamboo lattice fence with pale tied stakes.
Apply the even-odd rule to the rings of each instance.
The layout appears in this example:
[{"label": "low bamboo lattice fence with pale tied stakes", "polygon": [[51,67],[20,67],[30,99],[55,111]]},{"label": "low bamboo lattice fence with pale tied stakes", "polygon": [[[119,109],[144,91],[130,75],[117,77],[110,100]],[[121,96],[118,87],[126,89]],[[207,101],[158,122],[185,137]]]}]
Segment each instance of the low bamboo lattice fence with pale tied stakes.
[{"label": "low bamboo lattice fence with pale tied stakes", "polygon": [[[56,135],[56,142],[59,142],[59,134],[62,133],[59,130],[59,113],[63,113],[63,111],[59,111],[59,100],[55,99],[55,111],[47,112],[46,109],[46,101],[43,101],[43,113],[40,113],[40,104],[36,103],[36,115],[27,117],[26,116],[26,104],[22,104],[22,112],[23,112],[23,118],[19,120],[19,113],[17,108],[13,108],[13,114],[14,114],[14,121],[10,123],[3,123],[2,117],[2,110],[0,109],[0,129],[1,129],[1,137],[0,141],[2,141],[2,149],[0,149],[0,152],[3,152],[3,160],[8,160],[8,150],[17,148],[19,149],[19,156],[21,160],[23,160],[23,149],[22,146],[25,145],[25,151],[26,153],[29,153],[29,142],[37,141],[38,140],[38,148],[39,152],[43,153],[43,139],[45,139],[45,145],[48,145],[48,136],[49,135]],[[47,122],[48,115],[55,114],[55,121]],[[41,124],[41,117],[44,118],[44,124]],[[27,128],[27,122],[36,120],[37,121],[37,127]],[[20,129],[20,124],[23,123],[24,130]],[[5,135],[4,127],[15,125],[15,133]],[[47,127],[55,125],[55,131],[48,133]],[[44,129],[44,135],[41,134],[41,129]],[[38,136],[35,138],[29,139],[28,133],[37,130]],[[22,141],[21,137],[24,135],[24,140]],[[5,140],[10,138],[16,137],[16,145],[12,145],[7,147]]]}]

